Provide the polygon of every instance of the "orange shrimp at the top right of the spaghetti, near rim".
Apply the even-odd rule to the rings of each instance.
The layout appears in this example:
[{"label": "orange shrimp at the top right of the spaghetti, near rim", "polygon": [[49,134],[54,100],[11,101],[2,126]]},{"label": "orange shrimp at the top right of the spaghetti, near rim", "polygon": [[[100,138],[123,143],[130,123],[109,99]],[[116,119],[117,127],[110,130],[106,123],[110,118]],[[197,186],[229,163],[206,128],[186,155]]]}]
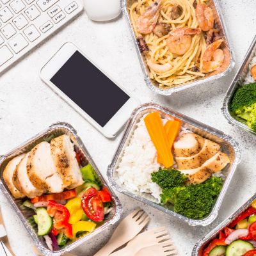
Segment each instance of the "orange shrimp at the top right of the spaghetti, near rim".
[{"label": "orange shrimp at the top right of the spaghetti, near rim", "polygon": [[202,31],[209,31],[213,28],[214,17],[212,8],[205,3],[196,5],[196,20]]}]

